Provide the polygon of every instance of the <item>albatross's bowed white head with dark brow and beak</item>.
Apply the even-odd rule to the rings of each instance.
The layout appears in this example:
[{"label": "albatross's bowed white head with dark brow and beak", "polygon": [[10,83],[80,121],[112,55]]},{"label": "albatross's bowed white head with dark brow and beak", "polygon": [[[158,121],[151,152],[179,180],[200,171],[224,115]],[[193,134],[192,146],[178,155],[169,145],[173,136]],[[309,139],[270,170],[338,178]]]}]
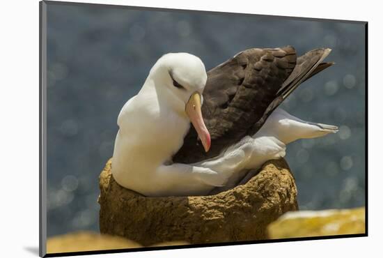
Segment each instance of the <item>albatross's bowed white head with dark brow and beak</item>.
[{"label": "albatross's bowed white head with dark brow and beak", "polygon": [[148,76],[154,82],[160,105],[170,106],[174,112],[189,118],[205,151],[210,149],[211,144],[201,113],[207,78],[201,59],[187,53],[165,54]]}]

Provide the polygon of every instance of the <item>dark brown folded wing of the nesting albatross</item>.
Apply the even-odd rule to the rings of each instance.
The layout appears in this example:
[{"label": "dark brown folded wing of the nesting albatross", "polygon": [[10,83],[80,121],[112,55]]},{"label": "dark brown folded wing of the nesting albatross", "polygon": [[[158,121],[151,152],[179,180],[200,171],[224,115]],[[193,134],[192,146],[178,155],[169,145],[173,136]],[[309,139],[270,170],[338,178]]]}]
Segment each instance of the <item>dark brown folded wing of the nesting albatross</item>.
[{"label": "dark brown folded wing of the nesting albatross", "polygon": [[[331,66],[320,63],[327,50],[297,59],[293,47],[250,49],[208,72],[202,113],[212,138],[205,153],[191,126],[173,162],[192,163],[219,155],[245,135],[253,135],[296,87]],[[328,50],[329,51],[329,50]]]}]

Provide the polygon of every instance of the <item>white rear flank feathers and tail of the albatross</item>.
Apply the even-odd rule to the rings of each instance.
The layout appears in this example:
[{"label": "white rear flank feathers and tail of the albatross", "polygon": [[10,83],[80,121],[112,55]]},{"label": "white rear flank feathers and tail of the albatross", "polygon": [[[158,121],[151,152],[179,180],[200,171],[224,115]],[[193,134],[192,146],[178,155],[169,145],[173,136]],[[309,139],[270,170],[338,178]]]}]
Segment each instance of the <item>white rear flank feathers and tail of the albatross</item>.
[{"label": "white rear flank feathers and tail of the albatross", "polygon": [[217,158],[194,165],[227,174],[228,181],[224,188],[220,188],[227,190],[236,185],[250,169],[260,168],[267,160],[283,158],[286,155],[286,145],[290,142],[335,132],[338,132],[337,126],[303,121],[279,107],[255,135],[244,137]]}]

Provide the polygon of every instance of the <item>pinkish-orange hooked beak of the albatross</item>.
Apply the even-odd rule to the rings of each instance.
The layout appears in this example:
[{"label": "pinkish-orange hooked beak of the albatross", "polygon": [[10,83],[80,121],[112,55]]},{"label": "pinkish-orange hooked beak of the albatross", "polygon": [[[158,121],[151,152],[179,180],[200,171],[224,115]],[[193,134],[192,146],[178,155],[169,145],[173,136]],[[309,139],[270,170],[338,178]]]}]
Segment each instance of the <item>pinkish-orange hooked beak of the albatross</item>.
[{"label": "pinkish-orange hooked beak of the albatross", "polygon": [[211,139],[208,128],[206,128],[205,123],[203,122],[200,93],[196,91],[192,94],[189,101],[186,103],[185,112],[187,116],[189,116],[194,128],[196,128],[198,137],[201,139],[203,144],[203,148],[206,152],[208,152],[210,149]]}]

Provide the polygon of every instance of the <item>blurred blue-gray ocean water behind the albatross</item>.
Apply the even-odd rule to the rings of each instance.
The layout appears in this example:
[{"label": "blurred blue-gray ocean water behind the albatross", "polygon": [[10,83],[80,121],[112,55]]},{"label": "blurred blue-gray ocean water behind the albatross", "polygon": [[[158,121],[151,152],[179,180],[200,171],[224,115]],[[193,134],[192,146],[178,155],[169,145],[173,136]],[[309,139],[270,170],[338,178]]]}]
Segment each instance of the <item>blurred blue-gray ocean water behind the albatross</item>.
[{"label": "blurred blue-gray ocean water behind the albatross", "polygon": [[336,65],[283,108],[340,131],[290,144],[286,159],[301,209],[364,206],[363,23],[50,3],[47,14],[48,236],[98,231],[98,176],[113,153],[118,112],[168,52],[200,56],[210,70],[251,47],[330,47]]}]

